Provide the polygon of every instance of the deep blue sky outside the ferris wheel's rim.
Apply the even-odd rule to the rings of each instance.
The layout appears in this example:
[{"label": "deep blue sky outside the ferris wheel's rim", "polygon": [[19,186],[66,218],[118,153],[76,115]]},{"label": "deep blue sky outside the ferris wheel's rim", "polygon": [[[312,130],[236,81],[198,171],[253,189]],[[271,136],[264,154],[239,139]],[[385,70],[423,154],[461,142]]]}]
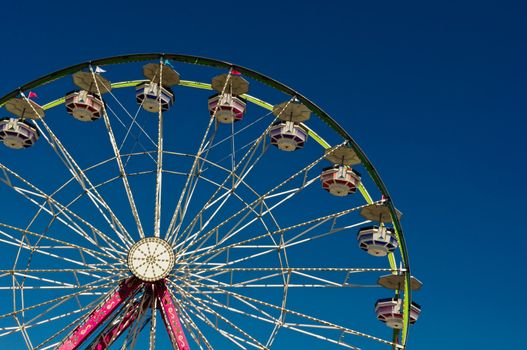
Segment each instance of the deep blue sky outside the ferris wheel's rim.
[{"label": "deep blue sky outside the ferris wheel's rim", "polygon": [[[411,349],[520,349],[527,41],[520,1],[46,1],[0,12],[0,95],[91,58],[210,56],[313,99],[405,213]],[[522,299],[523,298],[523,299]]]}]

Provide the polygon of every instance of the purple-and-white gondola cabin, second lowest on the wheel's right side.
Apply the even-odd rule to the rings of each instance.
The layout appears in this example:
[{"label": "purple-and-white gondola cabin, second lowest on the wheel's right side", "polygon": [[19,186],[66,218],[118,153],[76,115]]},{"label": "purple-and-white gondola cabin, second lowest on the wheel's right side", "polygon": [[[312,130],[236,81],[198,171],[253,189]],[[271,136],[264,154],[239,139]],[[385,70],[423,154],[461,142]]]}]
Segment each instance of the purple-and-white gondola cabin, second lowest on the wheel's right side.
[{"label": "purple-and-white gondola cabin, second lowest on the wheel's right side", "polygon": [[386,226],[361,228],[357,241],[362,250],[373,256],[386,256],[399,247],[393,230]]}]

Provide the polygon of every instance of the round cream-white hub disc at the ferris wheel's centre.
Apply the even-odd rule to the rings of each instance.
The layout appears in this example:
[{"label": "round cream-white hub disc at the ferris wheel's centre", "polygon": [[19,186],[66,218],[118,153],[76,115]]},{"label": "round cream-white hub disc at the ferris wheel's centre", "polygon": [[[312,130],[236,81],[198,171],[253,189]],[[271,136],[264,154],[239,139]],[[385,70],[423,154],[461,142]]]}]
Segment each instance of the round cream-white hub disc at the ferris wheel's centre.
[{"label": "round cream-white hub disc at the ferris wheel's centre", "polygon": [[136,242],[128,253],[128,268],[142,281],[159,281],[174,268],[174,251],[167,241],[147,237]]}]

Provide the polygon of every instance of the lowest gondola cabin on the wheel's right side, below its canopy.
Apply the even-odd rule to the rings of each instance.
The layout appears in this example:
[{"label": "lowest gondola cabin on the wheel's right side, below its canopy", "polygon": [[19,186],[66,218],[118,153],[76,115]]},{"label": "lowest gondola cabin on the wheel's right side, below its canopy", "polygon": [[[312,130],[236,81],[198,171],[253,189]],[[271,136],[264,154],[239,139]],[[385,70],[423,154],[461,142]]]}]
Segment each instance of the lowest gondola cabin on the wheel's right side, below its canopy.
[{"label": "lowest gondola cabin on the wheel's right side, below its canopy", "polygon": [[[379,299],[375,303],[375,313],[377,319],[393,329],[402,329],[403,319],[403,300],[399,298]],[[409,323],[414,324],[421,313],[421,306],[412,302],[410,305]]]}]

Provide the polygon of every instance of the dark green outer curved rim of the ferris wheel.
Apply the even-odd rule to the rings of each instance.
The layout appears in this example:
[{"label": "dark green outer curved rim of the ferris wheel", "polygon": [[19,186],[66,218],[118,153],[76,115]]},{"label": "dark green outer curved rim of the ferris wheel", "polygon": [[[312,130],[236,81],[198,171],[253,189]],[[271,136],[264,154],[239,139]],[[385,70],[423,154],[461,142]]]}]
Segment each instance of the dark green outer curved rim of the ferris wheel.
[{"label": "dark green outer curved rim of the ferris wheel", "polygon": [[[243,66],[235,65],[226,61],[211,59],[211,58],[205,58],[205,57],[199,57],[199,56],[193,56],[193,55],[184,55],[184,54],[165,54],[165,53],[141,53],[141,54],[131,54],[131,55],[120,55],[120,56],[111,56],[96,60],[87,61],[84,63],[80,63],[77,65],[72,65],[60,70],[57,70],[53,73],[44,75],[40,78],[37,78],[29,83],[26,83],[19,88],[11,91],[10,93],[4,95],[0,98],[0,107],[5,104],[9,99],[16,97],[20,92],[28,91],[30,89],[34,89],[36,87],[45,85],[47,83],[50,83],[56,79],[59,79],[61,77],[73,74],[79,70],[82,70],[84,68],[88,68],[90,66],[96,66],[96,65],[113,65],[113,64],[123,64],[123,63],[131,63],[131,62],[137,62],[137,61],[148,61],[153,59],[168,59],[168,60],[174,60],[178,62],[183,63],[189,63],[193,65],[204,65],[204,66],[211,66],[216,68],[227,68],[227,69],[236,69],[237,71],[256,79],[264,84],[267,84],[271,86],[272,88],[284,92],[286,94],[289,94],[291,96],[296,97],[300,102],[304,103],[312,112],[314,112],[321,120],[325,121],[335,132],[337,132],[340,136],[342,136],[349,145],[354,149],[354,151],[357,153],[358,157],[361,160],[362,165],[367,169],[369,175],[372,177],[375,185],[381,192],[383,196],[385,196],[388,200],[384,202],[384,204],[388,207],[390,214],[393,218],[393,225],[397,233],[397,237],[400,243],[400,252],[401,252],[401,259],[402,264],[405,271],[405,280],[406,284],[409,285],[411,273],[410,273],[410,264],[409,264],[409,258],[406,250],[406,244],[404,240],[404,233],[402,226],[400,224],[399,218],[397,216],[397,212],[393,203],[393,200],[391,199],[388,189],[385,186],[384,182],[382,181],[379,173],[369,160],[369,158],[366,156],[364,151],[360,148],[358,143],[349,135],[349,133],[342,128],[329,114],[327,114],[324,110],[322,110],[318,105],[316,105],[314,102],[312,102],[310,99],[306,98],[296,90],[293,90],[292,88],[266,76],[261,73],[258,73],[252,69],[245,68]],[[406,287],[405,288],[405,304],[409,305],[411,303],[411,288]],[[407,315],[408,312],[405,310],[405,314]],[[408,330],[408,319],[405,320],[406,326],[403,328],[403,337],[402,337],[402,345],[405,346],[407,342],[407,330]]]}]

